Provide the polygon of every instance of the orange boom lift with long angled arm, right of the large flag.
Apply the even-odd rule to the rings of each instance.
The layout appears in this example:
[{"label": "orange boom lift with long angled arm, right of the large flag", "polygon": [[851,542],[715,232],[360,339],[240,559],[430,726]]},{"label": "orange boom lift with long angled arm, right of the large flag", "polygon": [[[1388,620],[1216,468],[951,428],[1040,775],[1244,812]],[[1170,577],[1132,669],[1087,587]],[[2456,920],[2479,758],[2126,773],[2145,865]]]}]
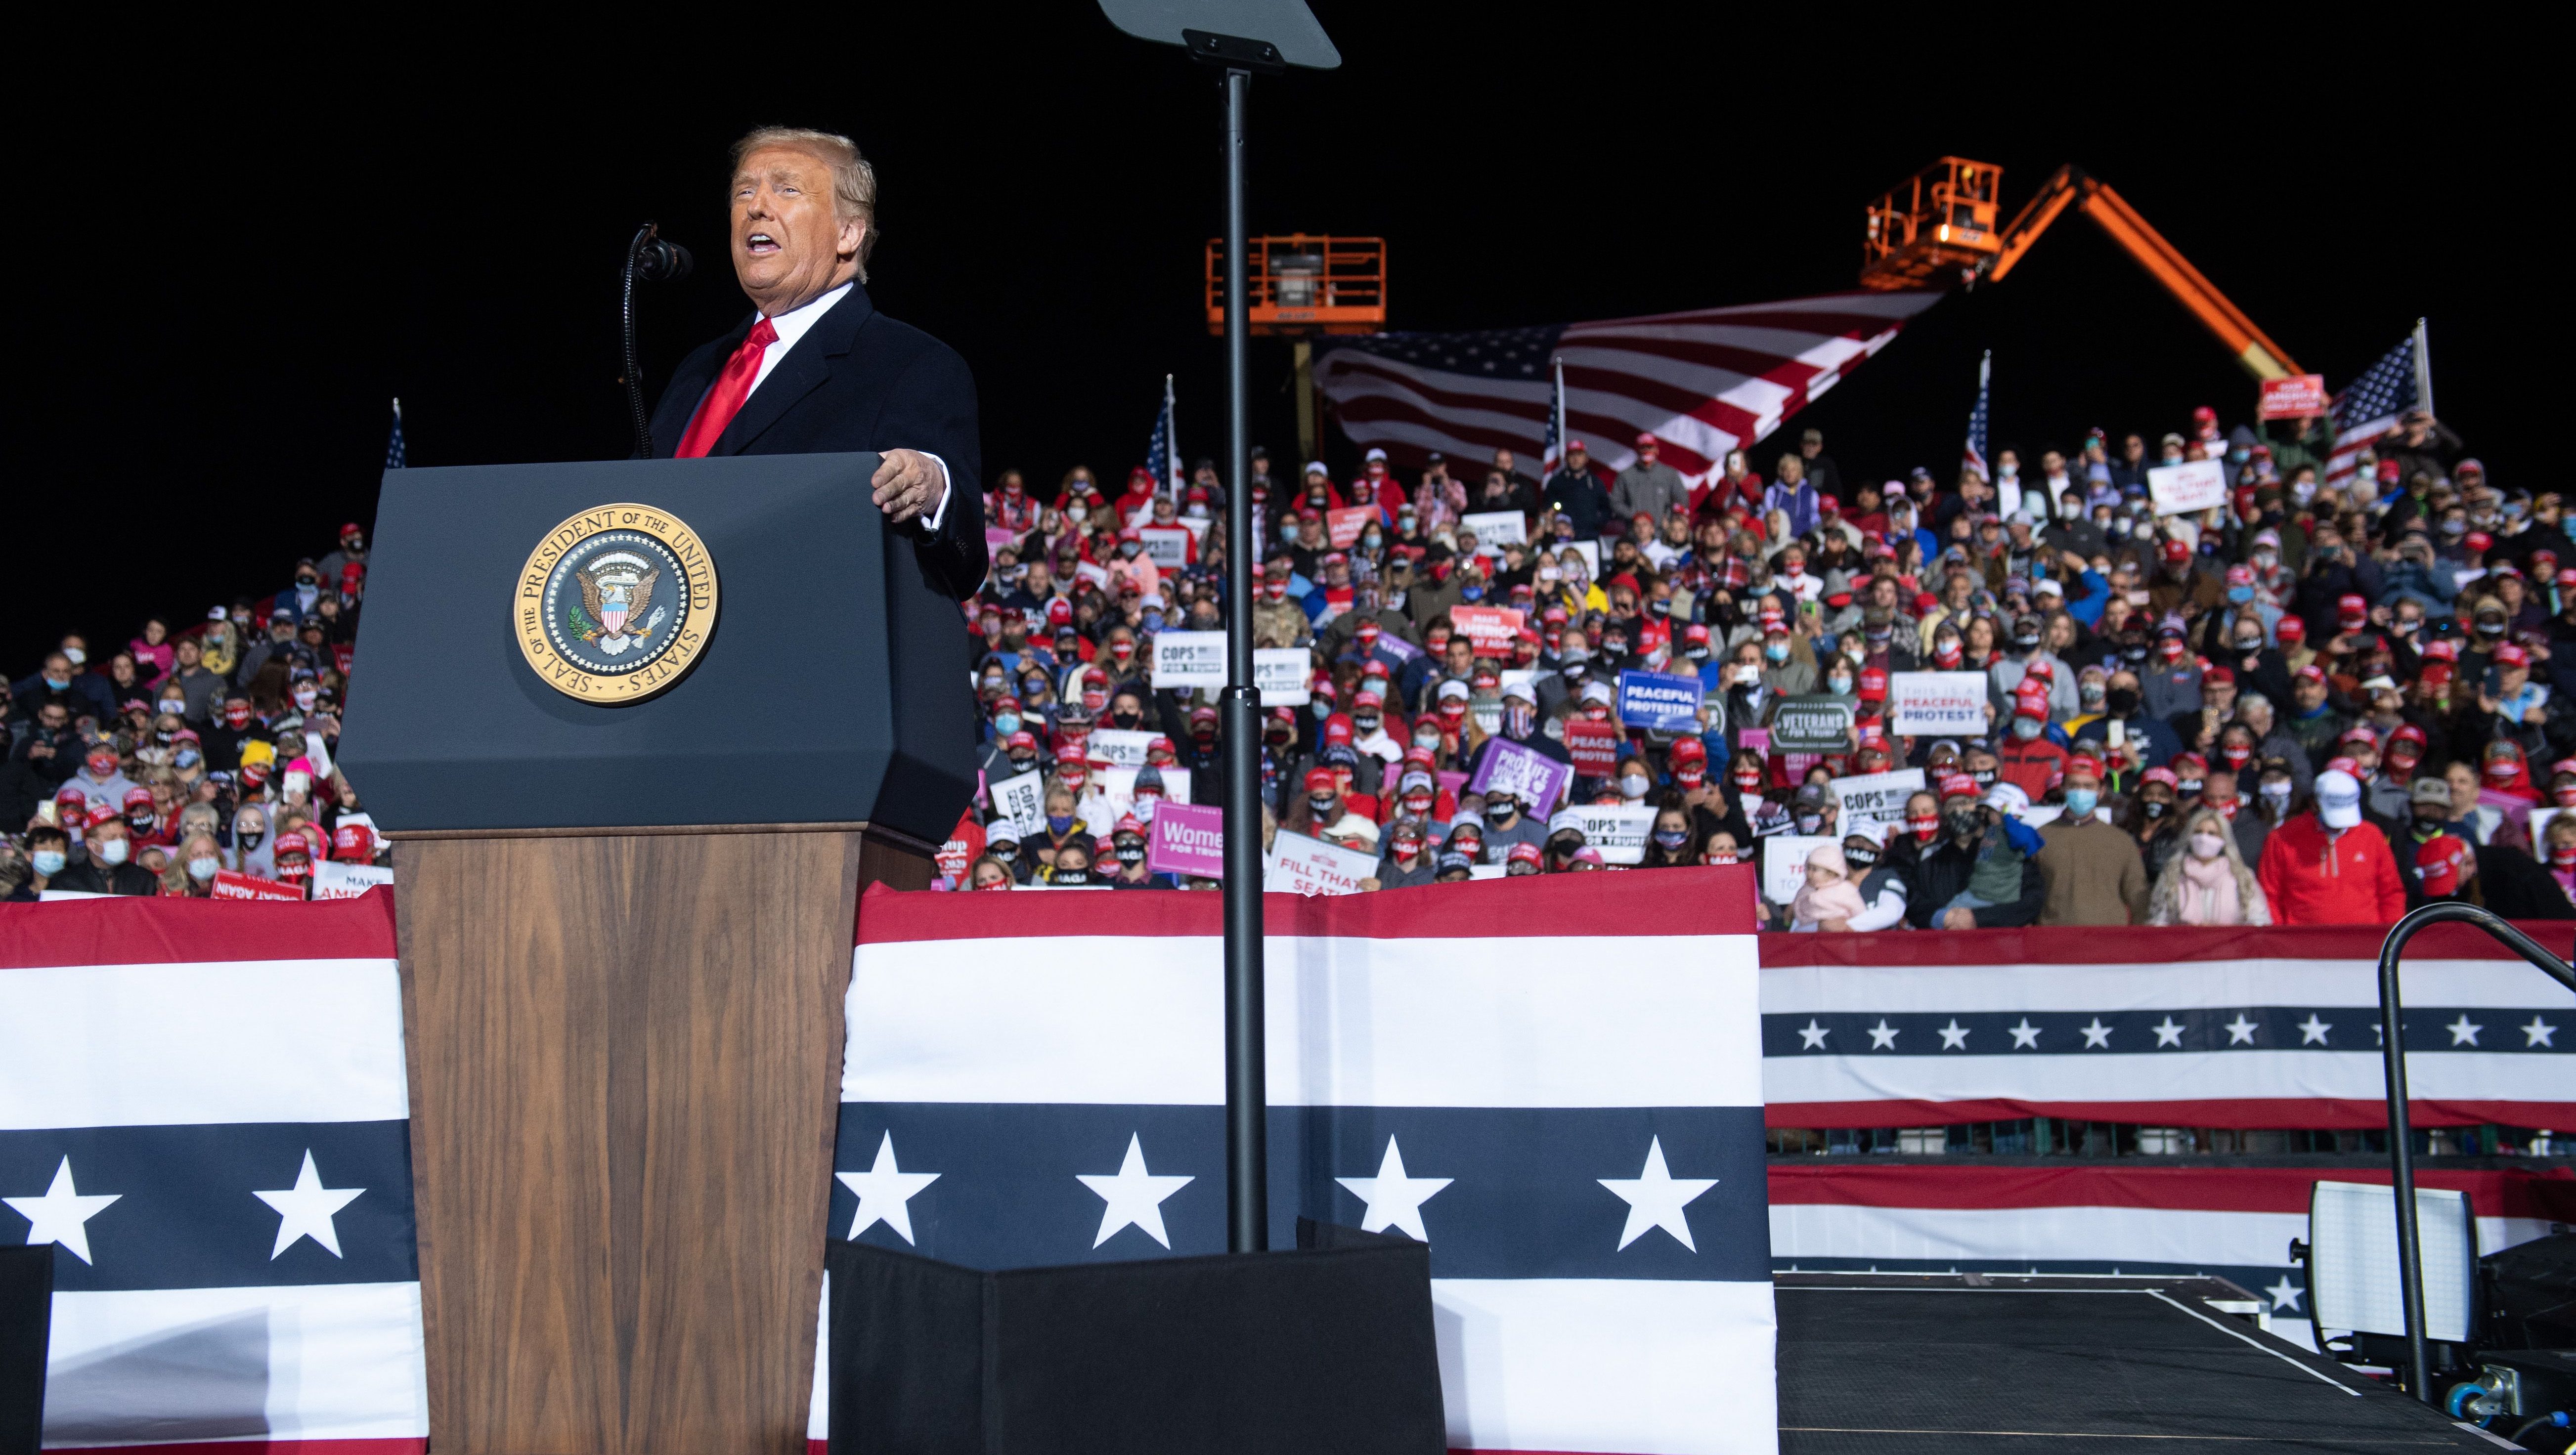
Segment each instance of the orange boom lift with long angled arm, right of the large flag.
[{"label": "orange boom lift with long angled arm, right of the large flag", "polygon": [[2161,232],[2128,206],[2110,183],[2081,167],[2058,167],[2012,221],[1996,227],[1996,185],[2004,170],[1965,157],[1942,157],[1870,203],[1860,245],[1862,288],[1973,288],[2002,283],[2066,209],[2084,216],[2128,250],[2184,309],[2192,309],[2236,363],[2254,379],[2303,373],[2290,353],[2192,268]]}]

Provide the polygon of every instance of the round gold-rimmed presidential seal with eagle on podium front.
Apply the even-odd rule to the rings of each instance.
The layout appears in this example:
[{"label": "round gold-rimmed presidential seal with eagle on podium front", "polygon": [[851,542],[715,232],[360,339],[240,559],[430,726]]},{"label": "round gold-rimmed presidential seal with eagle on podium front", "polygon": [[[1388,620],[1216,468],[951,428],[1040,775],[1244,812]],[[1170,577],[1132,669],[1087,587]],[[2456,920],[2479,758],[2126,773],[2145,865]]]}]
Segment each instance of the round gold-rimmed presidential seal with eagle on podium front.
[{"label": "round gold-rimmed presidential seal with eagle on podium front", "polygon": [[585,703],[641,703],[677,682],[716,628],[716,564],[652,505],[585,510],[518,572],[510,631],[538,680]]}]

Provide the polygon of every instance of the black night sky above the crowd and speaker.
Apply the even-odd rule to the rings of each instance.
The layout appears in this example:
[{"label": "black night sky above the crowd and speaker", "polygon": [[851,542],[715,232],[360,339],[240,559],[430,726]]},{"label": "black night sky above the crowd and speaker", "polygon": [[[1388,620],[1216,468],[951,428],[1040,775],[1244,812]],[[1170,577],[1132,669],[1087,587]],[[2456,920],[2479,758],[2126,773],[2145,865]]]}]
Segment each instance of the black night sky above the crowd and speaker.
[{"label": "black night sky above the crowd and speaker", "polygon": [[[2563,234],[2522,139],[2558,131],[2524,100],[2543,85],[2527,36],[1314,8],[1345,67],[1255,82],[1252,229],[1383,234],[1394,327],[1850,288],[1862,203],[1932,157],[2002,165],[2007,214],[2076,162],[2329,386],[2429,317],[2442,417],[2499,484],[2558,487],[2563,363],[2532,312],[2555,299],[2512,273]],[[773,18],[582,41],[422,21],[85,75],[77,108],[10,142],[0,667],[33,670],[64,628],[124,641],[147,610],[283,585],[371,520],[397,394],[412,464],[623,456],[621,247],[659,219],[701,258],[641,301],[659,381],[747,309],[721,188],[755,124],[845,131],[876,162],[871,294],[974,366],[987,474],[1123,474],[1164,373],[1185,453],[1218,456],[1213,77],[1074,0],[860,15],[814,39]],[[2254,404],[2226,350],[2069,214],[2007,283],[1940,304],[1798,422],[1847,476],[1945,471],[1984,348],[1994,443],[2025,453]],[[1257,340],[1252,368],[1255,440],[1285,458],[1288,345]],[[1329,458],[1352,456],[1332,435]]]}]

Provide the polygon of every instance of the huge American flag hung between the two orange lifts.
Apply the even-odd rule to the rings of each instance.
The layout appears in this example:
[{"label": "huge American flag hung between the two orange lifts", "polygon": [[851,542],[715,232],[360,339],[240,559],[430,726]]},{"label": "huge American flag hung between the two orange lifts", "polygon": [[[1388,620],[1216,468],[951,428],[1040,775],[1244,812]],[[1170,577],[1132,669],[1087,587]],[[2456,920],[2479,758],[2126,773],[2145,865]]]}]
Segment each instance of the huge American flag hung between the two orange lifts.
[{"label": "huge American flag hung between the two orange lifts", "polygon": [[1566,371],[1566,433],[1610,469],[1636,435],[1705,476],[1726,451],[1777,430],[1896,337],[1940,294],[1824,294],[1589,324],[1383,332],[1324,340],[1316,386],[1342,433],[1404,464],[1430,451],[1540,456],[1551,361]]}]

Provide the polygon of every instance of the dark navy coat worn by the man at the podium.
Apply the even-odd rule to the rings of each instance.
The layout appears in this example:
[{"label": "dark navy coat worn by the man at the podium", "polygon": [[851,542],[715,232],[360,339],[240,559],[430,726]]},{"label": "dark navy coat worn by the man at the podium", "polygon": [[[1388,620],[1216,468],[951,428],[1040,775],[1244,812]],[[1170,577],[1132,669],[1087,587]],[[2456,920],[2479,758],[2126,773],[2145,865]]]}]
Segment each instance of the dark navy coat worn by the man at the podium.
[{"label": "dark navy coat worn by the man at the podium", "polygon": [[[752,332],[734,332],[680,361],[652,417],[652,453],[670,458],[724,361]],[[899,525],[933,590],[956,600],[984,585],[984,446],[976,433],[974,373],[953,348],[876,312],[868,288],[850,291],[811,330],[716,438],[711,456],[822,456],[845,451],[922,451],[948,464],[940,530]],[[860,502],[873,510],[873,505]]]}]

